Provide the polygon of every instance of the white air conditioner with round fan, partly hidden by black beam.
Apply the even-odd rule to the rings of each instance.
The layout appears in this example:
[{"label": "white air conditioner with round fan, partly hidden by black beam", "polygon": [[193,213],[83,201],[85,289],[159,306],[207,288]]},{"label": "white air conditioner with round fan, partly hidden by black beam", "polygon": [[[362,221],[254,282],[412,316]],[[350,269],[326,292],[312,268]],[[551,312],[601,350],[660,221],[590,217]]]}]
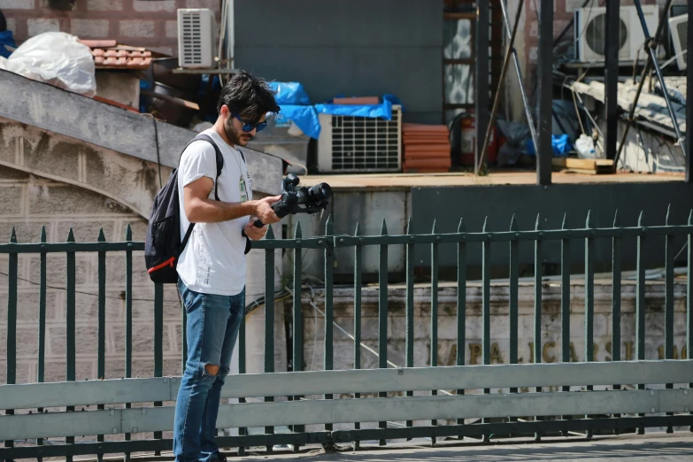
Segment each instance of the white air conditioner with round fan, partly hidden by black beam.
[{"label": "white air conditioner with round fan, partly hidden by black beam", "polygon": [[[654,35],[659,21],[657,5],[643,5],[643,15],[650,35]],[[645,36],[635,6],[621,6],[619,17],[619,61],[646,58],[643,48]],[[581,63],[603,63],[606,8],[581,8],[575,11],[574,19],[576,60]]]}]

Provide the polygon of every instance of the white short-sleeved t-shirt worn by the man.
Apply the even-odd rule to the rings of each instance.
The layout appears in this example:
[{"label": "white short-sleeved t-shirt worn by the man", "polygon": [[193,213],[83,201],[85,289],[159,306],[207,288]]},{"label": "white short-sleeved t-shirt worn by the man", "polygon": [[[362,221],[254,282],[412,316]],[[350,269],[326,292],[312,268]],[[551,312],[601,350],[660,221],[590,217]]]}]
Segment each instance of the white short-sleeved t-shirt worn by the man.
[{"label": "white short-sleeved t-shirt worn by the man", "polygon": [[[241,151],[231,147],[210,128],[203,132],[217,143],[224,158],[219,175],[219,200],[245,202],[252,198],[252,181]],[[217,157],[212,144],[197,141],[189,145],[178,166],[178,197],[181,203],[181,242],[189,227],[185,213],[183,188],[203,176],[215,180]],[[209,198],[214,198],[214,188]],[[197,223],[188,245],[178,261],[178,275],[183,283],[203,294],[235,296],[245,287],[245,237],[243,227],[250,217],[220,223]]]}]

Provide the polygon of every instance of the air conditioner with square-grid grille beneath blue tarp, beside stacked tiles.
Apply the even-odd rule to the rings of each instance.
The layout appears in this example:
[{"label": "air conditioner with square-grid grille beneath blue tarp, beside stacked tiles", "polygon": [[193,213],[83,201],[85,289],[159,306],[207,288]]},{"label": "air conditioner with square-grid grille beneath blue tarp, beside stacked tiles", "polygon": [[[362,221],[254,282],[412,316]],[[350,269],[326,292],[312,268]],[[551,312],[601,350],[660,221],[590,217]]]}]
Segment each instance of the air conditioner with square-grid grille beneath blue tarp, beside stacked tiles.
[{"label": "air conditioner with square-grid grille beneath blue tarp, beside stacked tiles", "polygon": [[402,169],[402,107],[392,119],[320,114],[321,173],[399,172]]}]

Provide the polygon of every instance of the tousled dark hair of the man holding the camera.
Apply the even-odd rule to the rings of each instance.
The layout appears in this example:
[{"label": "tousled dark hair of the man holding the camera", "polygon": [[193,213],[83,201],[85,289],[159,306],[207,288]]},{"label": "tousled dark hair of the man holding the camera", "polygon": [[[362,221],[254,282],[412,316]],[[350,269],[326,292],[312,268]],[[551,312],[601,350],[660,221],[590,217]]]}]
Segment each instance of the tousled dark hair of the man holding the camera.
[{"label": "tousled dark hair of the man holding the camera", "polygon": [[280,108],[274,101],[274,94],[265,79],[241,71],[221,89],[217,112],[220,113],[221,106],[226,104],[231,112],[235,112],[243,120],[257,122],[267,112],[279,112]]}]

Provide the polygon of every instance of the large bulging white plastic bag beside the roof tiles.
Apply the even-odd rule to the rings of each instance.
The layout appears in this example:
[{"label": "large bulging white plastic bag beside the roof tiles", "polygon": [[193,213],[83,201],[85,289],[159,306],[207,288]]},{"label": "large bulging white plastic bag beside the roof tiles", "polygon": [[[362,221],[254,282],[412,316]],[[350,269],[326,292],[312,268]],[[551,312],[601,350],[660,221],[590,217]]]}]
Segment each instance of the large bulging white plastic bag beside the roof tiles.
[{"label": "large bulging white plastic bag beside the roof tiles", "polygon": [[45,32],[30,38],[10,58],[0,58],[0,69],[84,96],[96,95],[91,50],[64,32]]}]

